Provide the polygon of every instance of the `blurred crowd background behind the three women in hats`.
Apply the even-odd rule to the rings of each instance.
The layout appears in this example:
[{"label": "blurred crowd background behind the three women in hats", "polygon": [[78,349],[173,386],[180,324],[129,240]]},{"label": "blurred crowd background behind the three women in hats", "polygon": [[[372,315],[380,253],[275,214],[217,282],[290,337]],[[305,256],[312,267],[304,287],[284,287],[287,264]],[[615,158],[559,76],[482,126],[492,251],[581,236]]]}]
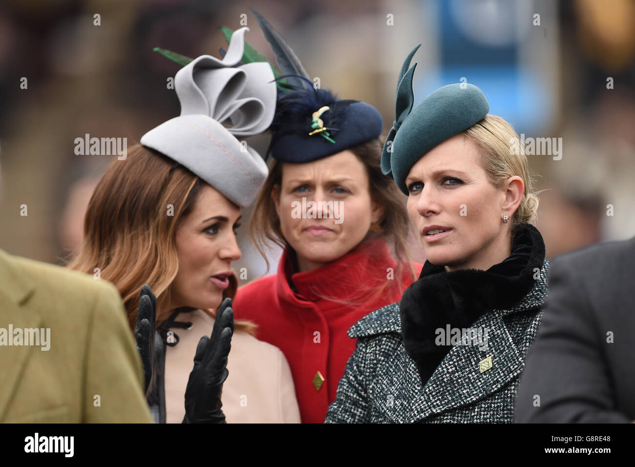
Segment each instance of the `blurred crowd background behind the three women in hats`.
[{"label": "blurred crowd background behind the three women in hats", "polygon": [[[323,88],[375,105],[384,136],[401,64],[422,43],[415,105],[472,83],[525,138],[561,139],[561,158],[528,156],[549,259],[635,235],[632,0],[2,0],[0,248],[64,264],[79,247],[92,190],[116,156],[76,155],[74,140],[126,137],[130,147],[180,112],[166,86],[179,66],[152,48],[218,57],[218,27],[236,30],[246,15],[246,40],[275,63],[250,7]],[[264,154],[268,139],[248,142]],[[248,266],[253,280],[267,271],[243,216],[235,269]]]}]

